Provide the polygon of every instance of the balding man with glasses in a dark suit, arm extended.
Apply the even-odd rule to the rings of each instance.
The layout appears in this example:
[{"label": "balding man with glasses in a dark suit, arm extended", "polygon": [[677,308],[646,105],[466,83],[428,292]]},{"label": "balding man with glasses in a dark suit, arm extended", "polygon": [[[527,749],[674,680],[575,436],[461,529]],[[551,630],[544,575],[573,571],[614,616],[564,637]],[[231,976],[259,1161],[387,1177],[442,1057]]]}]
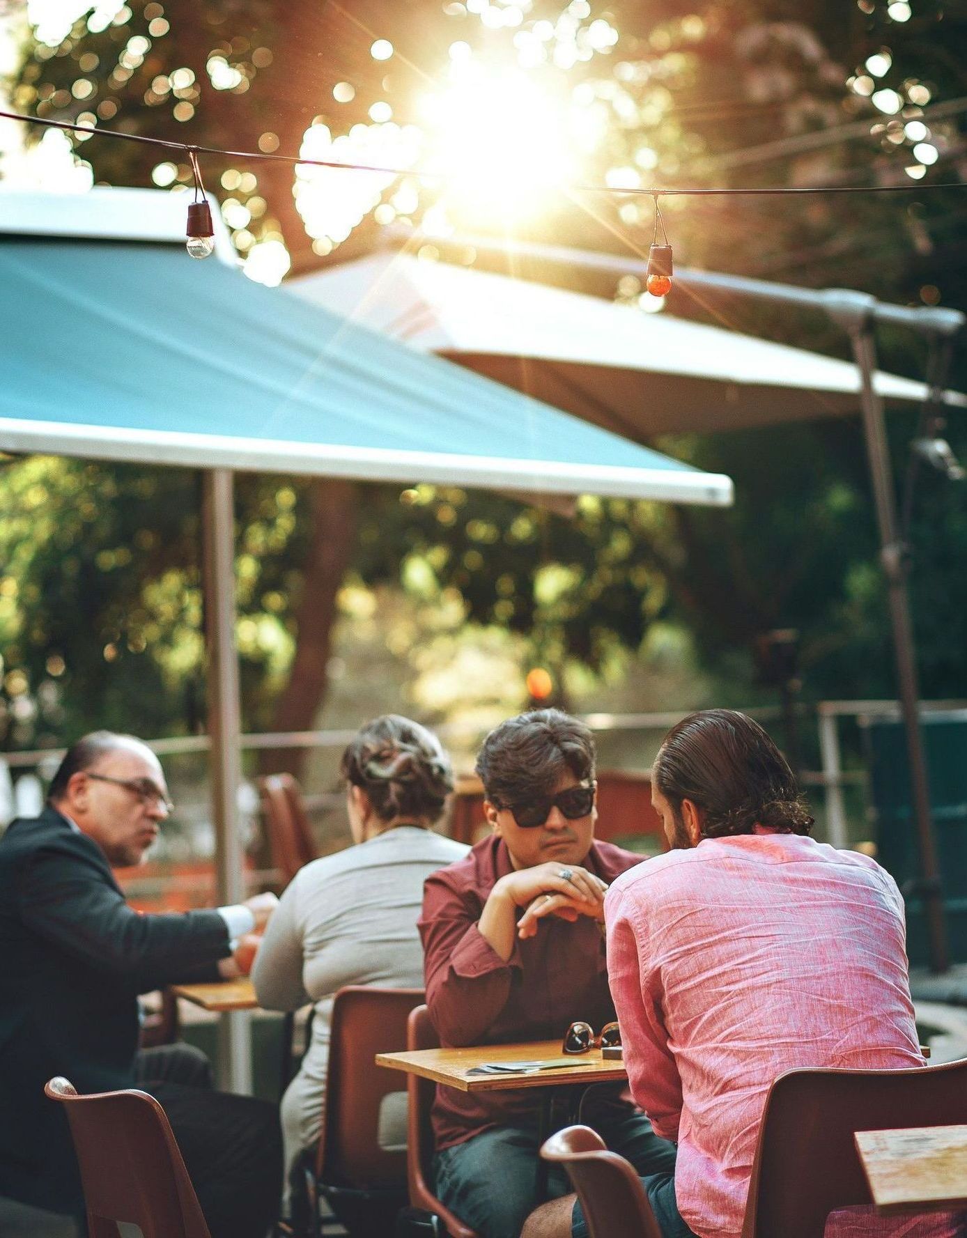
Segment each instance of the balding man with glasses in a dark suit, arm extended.
[{"label": "balding man with glasses in a dark suit, arm extended", "polygon": [[0,1195],[82,1214],[63,1107],[43,1084],[139,1086],[168,1115],[213,1238],[264,1238],[281,1185],[276,1109],[213,1092],[188,1046],[139,1052],[137,994],[236,974],[233,940],[262,927],[276,899],[134,911],[111,868],[141,862],[170,808],[155,754],[94,732],[64,756],[40,817],[0,839]]}]

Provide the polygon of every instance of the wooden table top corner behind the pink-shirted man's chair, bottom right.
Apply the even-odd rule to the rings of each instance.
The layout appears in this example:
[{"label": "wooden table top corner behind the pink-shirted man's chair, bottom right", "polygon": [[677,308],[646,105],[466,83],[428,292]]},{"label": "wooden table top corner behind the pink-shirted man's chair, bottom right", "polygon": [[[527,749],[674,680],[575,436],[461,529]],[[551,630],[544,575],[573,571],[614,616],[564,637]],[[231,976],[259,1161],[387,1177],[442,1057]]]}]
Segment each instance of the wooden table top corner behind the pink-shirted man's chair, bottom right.
[{"label": "wooden table top corner behind the pink-shirted man's chair, bottom right", "polygon": [[854,1139],[877,1212],[967,1207],[967,1127],[858,1130]]}]

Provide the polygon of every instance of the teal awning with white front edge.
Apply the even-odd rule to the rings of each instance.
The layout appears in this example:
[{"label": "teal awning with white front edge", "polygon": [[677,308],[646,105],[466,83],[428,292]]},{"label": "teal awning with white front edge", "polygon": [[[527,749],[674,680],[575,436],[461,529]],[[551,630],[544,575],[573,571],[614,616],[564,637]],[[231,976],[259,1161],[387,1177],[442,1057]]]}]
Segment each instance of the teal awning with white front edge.
[{"label": "teal awning with white front edge", "polygon": [[0,449],[724,505],[732,483],[180,245],[0,236]]}]

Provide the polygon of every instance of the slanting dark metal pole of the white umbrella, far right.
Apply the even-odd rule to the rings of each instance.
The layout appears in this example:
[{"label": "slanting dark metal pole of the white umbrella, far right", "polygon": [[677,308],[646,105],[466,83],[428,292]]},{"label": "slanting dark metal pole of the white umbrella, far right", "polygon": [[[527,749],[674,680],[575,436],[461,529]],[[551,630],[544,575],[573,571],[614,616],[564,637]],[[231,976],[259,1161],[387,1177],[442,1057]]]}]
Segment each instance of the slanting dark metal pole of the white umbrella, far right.
[{"label": "slanting dark metal pole of the white umbrella, far right", "polygon": [[906,592],[906,547],[896,534],[896,511],[893,477],[890,473],[889,444],[883,421],[883,400],[873,389],[877,370],[877,347],[873,323],[865,316],[844,323],[853,345],[853,355],[861,374],[861,407],[863,428],[869,456],[869,472],[877,505],[877,524],[880,535],[880,562],[887,577],[893,626],[893,646],[896,659],[896,678],[900,691],[900,709],[906,733],[906,755],[910,764],[910,802],[920,839],[921,879],[917,893],[924,901],[930,966],[935,972],[945,972],[950,966],[943,925],[943,900],[940,889],[934,823],[930,810],[924,737],[920,730],[920,703],[914,654],[914,628],[910,619],[910,602]]}]

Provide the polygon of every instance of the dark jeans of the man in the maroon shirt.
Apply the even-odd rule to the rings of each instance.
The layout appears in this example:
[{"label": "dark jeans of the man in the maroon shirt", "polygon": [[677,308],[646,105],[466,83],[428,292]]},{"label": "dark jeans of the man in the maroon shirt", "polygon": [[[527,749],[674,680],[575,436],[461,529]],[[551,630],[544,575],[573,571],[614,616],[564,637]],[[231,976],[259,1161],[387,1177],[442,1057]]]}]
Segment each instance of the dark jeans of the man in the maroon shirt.
[{"label": "dark jeans of the man in the maroon shirt", "polygon": [[[581,1120],[639,1174],[674,1175],[675,1148],[657,1138],[644,1114],[615,1103],[613,1096],[582,1110]],[[480,1238],[519,1238],[526,1218],[544,1202],[536,1196],[537,1151],[536,1128],[518,1127],[498,1127],[446,1148],[435,1161],[437,1197]],[[572,1190],[566,1171],[551,1165],[547,1197],[556,1200]]]}]

